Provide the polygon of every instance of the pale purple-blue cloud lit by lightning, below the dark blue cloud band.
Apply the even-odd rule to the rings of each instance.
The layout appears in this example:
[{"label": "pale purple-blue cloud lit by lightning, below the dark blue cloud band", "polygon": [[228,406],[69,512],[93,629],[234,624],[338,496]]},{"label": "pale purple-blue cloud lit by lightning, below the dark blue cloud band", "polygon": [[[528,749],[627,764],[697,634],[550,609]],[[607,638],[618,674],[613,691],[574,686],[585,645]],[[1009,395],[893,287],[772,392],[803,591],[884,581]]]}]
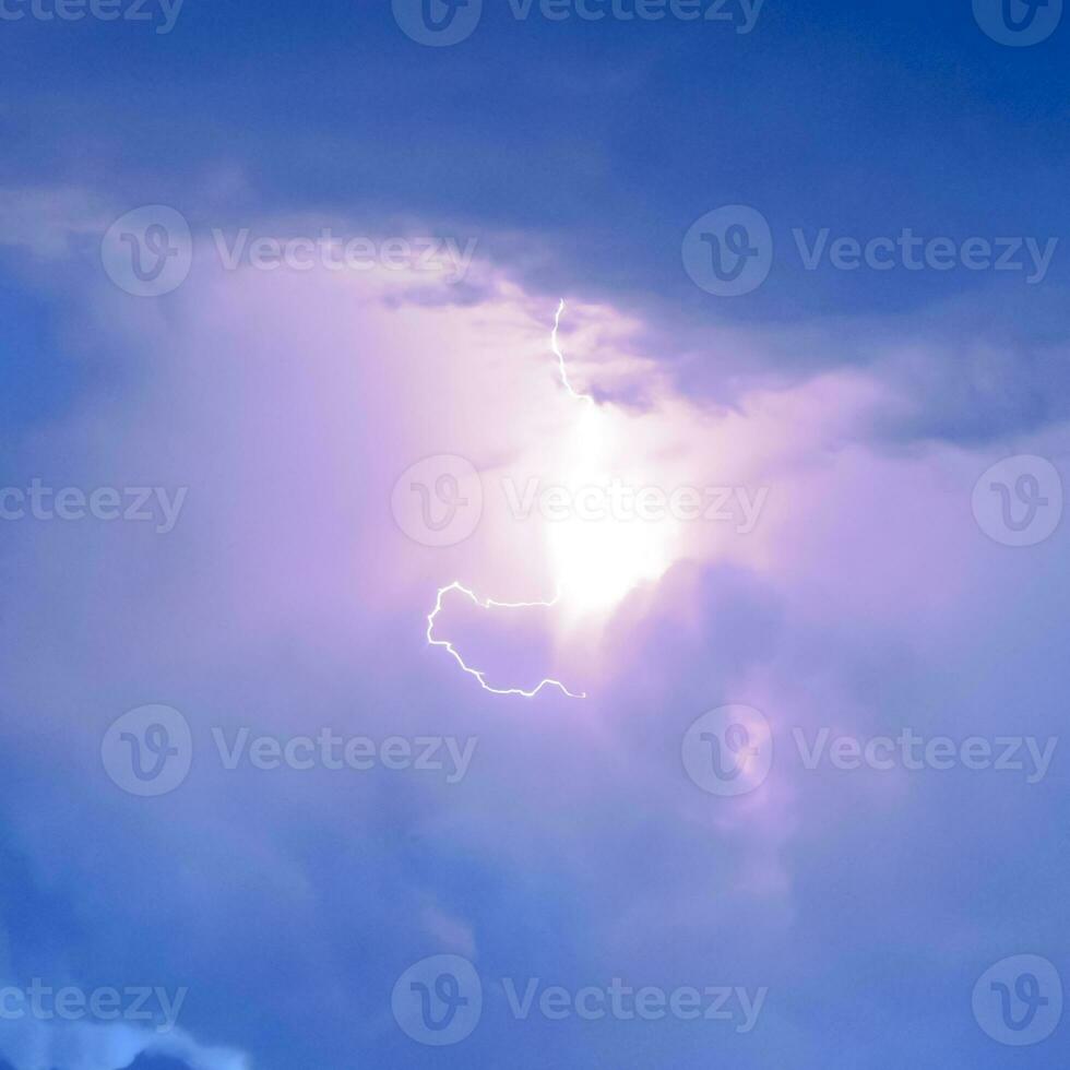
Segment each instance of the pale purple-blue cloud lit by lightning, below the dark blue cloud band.
[{"label": "pale purple-blue cloud lit by lightning, below the dark blue cloud band", "polygon": [[[846,780],[800,768],[787,742],[822,724],[964,735],[1057,723],[1061,544],[1041,547],[1031,571],[977,527],[973,485],[1010,444],[932,436],[905,389],[910,361],[726,372],[730,402],[718,402],[645,349],[670,325],[581,296],[561,341],[579,388],[602,401],[592,427],[549,352],[559,295],[498,264],[477,263],[457,293],[385,270],[227,272],[202,242],[180,290],[139,301],[69,258],[51,285],[86,325],[71,345],[106,350],[111,374],[26,431],[12,471],[54,487],[189,492],[166,536],[97,521],[4,532],[0,808],[19,878],[0,907],[19,976],[189,983],[191,1034],[269,1068],[405,1065],[389,992],[437,950],[471,955],[488,977],[757,982],[774,989],[768,1033],[730,1047],[749,1070],[796,1050],[800,1015],[829,1014],[825,995],[807,996],[832,968],[829,948],[846,953],[865,932],[876,956],[849,960],[844,1013],[873,1012],[867,970],[908,958],[953,987],[998,950],[998,934],[955,913],[952,842],[967,880],[1016,887],[1050,938],[1054,893],[1039,877],[1023,887],[1009,833],[1007,857],[991,859],[985,824],[1050,822],[1048,784]],[[730,341],[737,365],[763,344]],[[704,382],[724,368],[714,353]],[[912,420],[917,433],[904,431]],[[1060,453],[1063,427],[1029,426],[1015,449]],[[442,453],[472,462],[486,501],[471,538],[435,548],[405,536],[390,502],[403,472]],[[501,489],[606,473],[768,496],[746,532],[738,499],[727,520],[588,531],[518,521]],[[426,644],[435,592],[453,579],[524,601],[551,593],[562,569],[585,575],[617,555],[617,574],[637,554],[643,568],[613,597],[506,626],[523,646],[478,613],[443,618],[504,677],[552,669],[585,702],[486,694]],[[764,711],[785,745],[738,805],[699,790],[680,758],[691,722],[733,701]],[[107,725],[145,702],[181,710],[197,744],[189,782],[156,800],[124,795],[99,759]],[[382,769],[229,772],[212,745],[214,726],[285,738],[322,725],[479,746],[450,785]],[[918,857],[931,882],[913,876]],[[17,913],[27,890],[36,920]],[[153,938],[134,946],[130,932]],[[821,992],[834,984],[823,977]],[[895,998],[916,1009],[911,994]],[[488,1016],[456,1058],[515,1051],[509,1024]],[[144,1039],[85,1034],[87,1068],[132,1058]],[[701,1047],[693,1034],[657,1038],[683,1062]],[[622,1058],[634,1037],[574,1039],[580,1066]],[[191,1066],[241,1065],[229,1047],[189,1045],[176,1054]],[[820,1057],[806,1050],[799,1065]]]}]

